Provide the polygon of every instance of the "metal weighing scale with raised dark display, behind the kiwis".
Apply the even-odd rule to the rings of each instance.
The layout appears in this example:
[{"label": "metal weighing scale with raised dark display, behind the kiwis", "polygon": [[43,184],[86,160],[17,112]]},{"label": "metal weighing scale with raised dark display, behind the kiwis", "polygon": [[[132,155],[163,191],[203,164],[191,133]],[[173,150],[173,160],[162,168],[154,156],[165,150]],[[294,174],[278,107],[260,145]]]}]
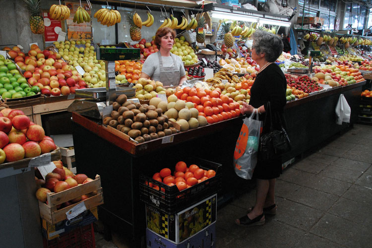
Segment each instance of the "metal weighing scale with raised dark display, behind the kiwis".
[{"label": "metal weighing scale with raised dark display, behind the kiwis", "polygon": [[112,104],[121,94],[133,97],[135,89],[129,87],[117,87],[115,79],[115,61],[139,60],[140,49],[138,48],[96,48],[97,60],[105,61],[106,87],[77,89],[76,97],[84,99],[75,100],[68,108],[68,112],[77,112],[80,115],[102,121],[111,113]]}]

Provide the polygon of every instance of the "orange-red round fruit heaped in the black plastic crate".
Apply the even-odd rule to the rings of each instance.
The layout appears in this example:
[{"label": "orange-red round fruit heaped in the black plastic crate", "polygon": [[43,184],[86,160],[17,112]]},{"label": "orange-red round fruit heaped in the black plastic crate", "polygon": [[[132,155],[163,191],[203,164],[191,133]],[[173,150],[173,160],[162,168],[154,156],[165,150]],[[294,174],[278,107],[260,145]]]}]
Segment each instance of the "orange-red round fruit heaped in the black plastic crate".
[{"label": "orange-red round fruit heaped in the black plastic crate", "polygon": [[[206,171],[199,168],[197,165],[190,165],[190,167],[187,167],[185,162],[180,161],[176,164],[176,170],[173,175],[171,169],[164,168],[160,172],[155,173],[152,179],[168,186],[176,185],[178,190],[182,191],[212,178],[215,175],[216,172],[214,170]],[[149,183],[149,186],[159,190],[159,186],[151,183]],[[164,191],[163,188],[161,190]]]}]

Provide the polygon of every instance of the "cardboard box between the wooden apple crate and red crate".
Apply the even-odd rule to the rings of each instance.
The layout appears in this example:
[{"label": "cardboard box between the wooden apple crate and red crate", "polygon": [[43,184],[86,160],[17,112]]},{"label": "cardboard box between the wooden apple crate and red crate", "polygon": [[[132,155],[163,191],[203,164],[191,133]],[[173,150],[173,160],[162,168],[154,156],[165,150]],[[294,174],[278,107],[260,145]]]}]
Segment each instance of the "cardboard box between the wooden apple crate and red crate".
[{"label": "cardboard box between the wooden apple crate and red crate", "polygon": [[42,233],[48,240],[53,240],[60,237],[60,235],[70,232],[77,227],[89,225],[98,220],[97,207],[86,210],[71,220],[64,220],[56,224],[51,224],[45,219],[41,218]]}]

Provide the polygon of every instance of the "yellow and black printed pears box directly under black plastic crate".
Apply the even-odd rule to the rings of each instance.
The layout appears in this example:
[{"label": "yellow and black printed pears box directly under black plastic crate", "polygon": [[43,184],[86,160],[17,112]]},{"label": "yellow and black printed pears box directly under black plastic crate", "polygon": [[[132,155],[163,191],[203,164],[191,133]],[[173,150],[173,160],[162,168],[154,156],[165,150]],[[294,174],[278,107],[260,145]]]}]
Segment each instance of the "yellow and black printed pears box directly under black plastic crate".
[{"label": "yellow and black printed pears box directly under black plastic crate", "polygon": [[174,244],[188,238],[216,222],[217,194],[175,214],[166,214],[146,204],[147,229]]}]

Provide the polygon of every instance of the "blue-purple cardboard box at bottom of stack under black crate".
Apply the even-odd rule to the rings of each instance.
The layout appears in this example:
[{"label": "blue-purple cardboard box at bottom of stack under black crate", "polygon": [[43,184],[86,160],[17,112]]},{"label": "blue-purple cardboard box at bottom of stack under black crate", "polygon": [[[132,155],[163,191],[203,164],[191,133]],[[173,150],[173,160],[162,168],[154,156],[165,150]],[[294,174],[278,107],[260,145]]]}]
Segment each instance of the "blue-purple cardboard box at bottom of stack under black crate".
[{"label": "blue-purple cardboard box at bottom of stack under black crate", "polygon": [[146,228],[147,248],[191,248],[216,247],[216,223],[212,223],[181,244],[174,244]]}]

